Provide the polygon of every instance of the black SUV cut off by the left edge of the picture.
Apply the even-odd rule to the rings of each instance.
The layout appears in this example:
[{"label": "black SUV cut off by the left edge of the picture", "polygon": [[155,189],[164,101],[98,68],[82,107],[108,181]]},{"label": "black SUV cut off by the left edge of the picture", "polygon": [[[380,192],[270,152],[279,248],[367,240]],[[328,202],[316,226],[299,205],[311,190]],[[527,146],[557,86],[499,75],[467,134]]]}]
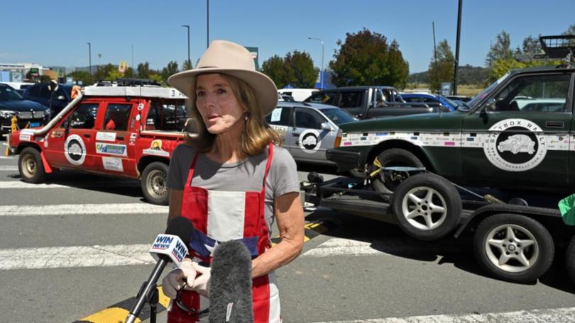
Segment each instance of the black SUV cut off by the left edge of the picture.
[{"label": "black SUV cut off by the left edge of the picture", "polygon": [[0,134],[10,132],[14,116],[18,128],[33,128],[48,123],[50,110],[40,103],[25,100],[13,87],[0,84]]}]

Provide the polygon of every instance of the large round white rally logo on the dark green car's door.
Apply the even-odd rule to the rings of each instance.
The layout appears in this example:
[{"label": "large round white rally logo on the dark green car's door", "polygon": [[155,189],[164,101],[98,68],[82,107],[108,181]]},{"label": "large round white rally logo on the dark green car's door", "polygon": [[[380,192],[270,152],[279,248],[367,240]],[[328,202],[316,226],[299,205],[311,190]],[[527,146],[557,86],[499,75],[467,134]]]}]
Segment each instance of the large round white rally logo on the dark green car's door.
[{"label": "large round white rally logo on the dark green car's door", "polygon": [[527,171],[547,154],[542,129],[530,120],[505,119],[489,128],[483,151],[491,164],[504,171]]}]

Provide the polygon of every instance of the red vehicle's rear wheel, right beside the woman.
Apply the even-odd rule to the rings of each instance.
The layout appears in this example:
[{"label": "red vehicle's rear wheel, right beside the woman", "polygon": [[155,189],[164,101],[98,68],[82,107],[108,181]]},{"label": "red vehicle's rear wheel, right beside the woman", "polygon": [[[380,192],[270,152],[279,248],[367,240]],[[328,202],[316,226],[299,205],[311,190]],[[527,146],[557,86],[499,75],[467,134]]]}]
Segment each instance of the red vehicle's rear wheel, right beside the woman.
[{"label": "red vehicle's rear wheel, right beside the woman", "polygon": [[149,203],[168,205],[168,165],[163,162],[148,164],[142,173],[142,193]]}]

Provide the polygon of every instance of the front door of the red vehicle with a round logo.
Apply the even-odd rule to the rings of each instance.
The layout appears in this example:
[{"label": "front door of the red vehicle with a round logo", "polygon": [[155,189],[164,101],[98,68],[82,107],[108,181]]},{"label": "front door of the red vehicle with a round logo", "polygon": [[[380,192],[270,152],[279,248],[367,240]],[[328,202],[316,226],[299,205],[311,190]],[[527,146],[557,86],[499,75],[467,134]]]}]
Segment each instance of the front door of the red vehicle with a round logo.
[{"label": "front door of the red vehicle with a round logo", "polygon": [[100,110],[100,103],[82,103],[48,131],[43,151],[50,165],[65,169],[98,169],[94,142]]}]

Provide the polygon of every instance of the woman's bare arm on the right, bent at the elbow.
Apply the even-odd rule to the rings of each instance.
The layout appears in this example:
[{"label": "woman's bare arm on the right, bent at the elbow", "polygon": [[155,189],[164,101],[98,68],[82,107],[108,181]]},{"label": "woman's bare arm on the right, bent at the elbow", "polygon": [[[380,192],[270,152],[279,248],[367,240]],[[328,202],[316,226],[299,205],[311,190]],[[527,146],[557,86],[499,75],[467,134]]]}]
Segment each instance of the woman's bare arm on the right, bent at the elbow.
[{"label": "woman's bare arm on the right, bent at the elbow", "polygon": [[[281,242],[252,261],[251,276],[263,276],[284,266],[300,254],[304,243],[304,215],[300,193],[286,193],[274,200],[275,220]],[[170,205],[171,210],[171,205]]]}]

